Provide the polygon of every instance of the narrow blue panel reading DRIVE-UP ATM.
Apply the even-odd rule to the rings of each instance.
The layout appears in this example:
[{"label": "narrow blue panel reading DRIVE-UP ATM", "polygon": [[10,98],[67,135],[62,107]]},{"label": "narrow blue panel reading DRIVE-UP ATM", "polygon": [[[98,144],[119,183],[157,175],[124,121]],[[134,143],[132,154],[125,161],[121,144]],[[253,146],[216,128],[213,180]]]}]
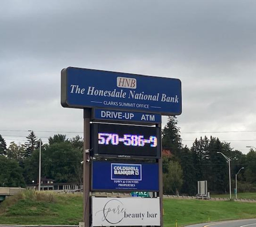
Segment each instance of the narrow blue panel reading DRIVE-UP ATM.
[{"label": "narrow blue panel reading DRIVE-UP ATM", "polygon": [[161,115],[158,113],[130,112],[118,110],[94,109],[94,119],[114,120],[115,122],[141,122],[141,123],[161,123]]}]

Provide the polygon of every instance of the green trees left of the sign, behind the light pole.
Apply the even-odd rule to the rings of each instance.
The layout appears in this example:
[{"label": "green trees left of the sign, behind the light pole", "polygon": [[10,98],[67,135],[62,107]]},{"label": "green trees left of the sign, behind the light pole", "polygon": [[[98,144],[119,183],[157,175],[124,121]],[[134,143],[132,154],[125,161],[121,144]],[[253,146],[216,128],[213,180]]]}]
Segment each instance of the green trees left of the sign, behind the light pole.
[{"label": "green trees left of the sign, behind the light pole", "polygon": [[[39,144],[33,131],[25,144],[11,142],[6,147],[0,135],[0,187],[26,187],[38,182]],[[82,185],[83,140],[67,139],[64,134],[49,137],[41,144],[41,176],[58,183]]]}]

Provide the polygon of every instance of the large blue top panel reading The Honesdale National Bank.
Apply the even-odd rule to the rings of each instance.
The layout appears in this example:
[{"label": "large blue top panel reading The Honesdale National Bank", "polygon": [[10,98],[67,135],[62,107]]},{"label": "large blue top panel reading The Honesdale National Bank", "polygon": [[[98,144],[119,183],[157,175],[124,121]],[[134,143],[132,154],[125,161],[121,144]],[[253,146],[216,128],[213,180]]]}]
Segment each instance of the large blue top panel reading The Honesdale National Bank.
[{"label": "large blue top panel reading The Honesdale National Bank", "polygon": [[61,71],[61,105],[180,115],[181,81],[68,67]]}]

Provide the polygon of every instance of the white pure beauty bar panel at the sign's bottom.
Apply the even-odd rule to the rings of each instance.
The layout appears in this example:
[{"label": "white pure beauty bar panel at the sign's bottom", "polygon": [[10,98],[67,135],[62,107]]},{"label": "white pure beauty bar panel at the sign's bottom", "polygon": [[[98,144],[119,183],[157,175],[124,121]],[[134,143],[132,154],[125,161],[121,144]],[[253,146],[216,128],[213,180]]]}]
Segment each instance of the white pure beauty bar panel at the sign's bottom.
[{"label": "white pure beauty bar panel at the sign's bottom", "polygon": [[93,226],[160,225],[159,198],[92,197]]}]

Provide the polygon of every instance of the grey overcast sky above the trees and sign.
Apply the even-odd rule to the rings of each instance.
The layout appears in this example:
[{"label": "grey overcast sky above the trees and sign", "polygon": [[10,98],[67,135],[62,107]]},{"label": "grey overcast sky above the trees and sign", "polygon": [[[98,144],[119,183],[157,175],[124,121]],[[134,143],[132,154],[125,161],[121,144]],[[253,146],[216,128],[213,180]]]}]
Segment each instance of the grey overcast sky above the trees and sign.
[{"label": "grey overcast sky above the trees and sign", "polygon": [[82,136],[82,110],[60,105],[60,71],[73,66],[177,78],[183,144],[215,136],[247,153],[255,60],[255,0],[2,0],[0,134]]}]

